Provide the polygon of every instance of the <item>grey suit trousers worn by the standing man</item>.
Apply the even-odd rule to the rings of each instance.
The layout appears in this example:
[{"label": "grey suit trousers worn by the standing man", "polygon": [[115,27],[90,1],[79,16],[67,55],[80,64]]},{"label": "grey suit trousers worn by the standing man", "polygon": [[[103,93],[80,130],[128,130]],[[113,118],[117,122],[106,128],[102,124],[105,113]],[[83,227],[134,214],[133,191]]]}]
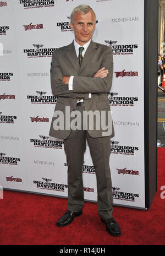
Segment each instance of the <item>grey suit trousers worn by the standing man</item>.
[{"label": "grey suit trousers worn by the standing man", "polygon": [[76,106],[81,112],[81,129],[71,130],[64,139],[64,150],[68,164],[68,210],[81,211],[84,206],[83,164],[86,140],[95,166],[97,181],[97,213],[102,219],[109,219],[113,212],[112,181],[109,168],[111,152],[110,137],[92,138],[83,130],[84,106]]}]

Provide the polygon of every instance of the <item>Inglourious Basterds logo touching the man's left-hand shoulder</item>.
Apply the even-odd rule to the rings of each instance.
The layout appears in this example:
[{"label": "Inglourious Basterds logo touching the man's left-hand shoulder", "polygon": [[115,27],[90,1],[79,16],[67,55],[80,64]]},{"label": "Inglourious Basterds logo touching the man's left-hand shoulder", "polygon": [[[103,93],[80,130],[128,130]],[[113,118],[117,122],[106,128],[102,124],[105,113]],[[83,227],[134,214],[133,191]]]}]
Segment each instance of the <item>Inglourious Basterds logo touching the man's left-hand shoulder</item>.
[{"label": "Inglourious Basterds logo touching the man's left-hand shoulder", "polygon": [[43,45],[36,43],[33,43],[32,46],[34,48],[24,49],[24,53],[27,54],[27,58],[52,57],[53,51],[57,50],[57,48],[43,48]]}]

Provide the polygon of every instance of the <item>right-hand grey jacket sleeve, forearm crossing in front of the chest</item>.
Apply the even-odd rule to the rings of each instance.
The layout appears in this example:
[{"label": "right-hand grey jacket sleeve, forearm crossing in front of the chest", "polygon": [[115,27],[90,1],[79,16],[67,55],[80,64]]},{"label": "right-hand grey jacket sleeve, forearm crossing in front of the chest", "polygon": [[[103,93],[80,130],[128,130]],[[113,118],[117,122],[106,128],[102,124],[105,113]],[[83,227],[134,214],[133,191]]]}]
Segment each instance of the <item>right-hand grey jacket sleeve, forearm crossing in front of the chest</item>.
[{"label": "right-hand grey jacket sleeve, forearm crossing in front of the chest", "polygon": [[103,54],[101,68],[105,67],[109,73],[107,77],[74,77],[73,92],[104,93],[111,89],[113,76],[113,53],[111,47]]}]

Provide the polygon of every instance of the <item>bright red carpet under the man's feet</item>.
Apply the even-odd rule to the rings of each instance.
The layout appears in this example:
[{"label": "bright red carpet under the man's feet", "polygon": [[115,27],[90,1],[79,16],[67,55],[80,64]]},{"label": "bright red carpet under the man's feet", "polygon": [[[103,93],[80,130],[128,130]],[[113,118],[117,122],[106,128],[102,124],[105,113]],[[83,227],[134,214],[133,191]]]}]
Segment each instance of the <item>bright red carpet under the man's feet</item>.
[{"label": "bright red carpet under the man's feet", "polygon": [[[112,237],[96,213],[96,203],[85,202],[83,215],[66,227],[56,221],[67,210],[67,199],[4,190],[0,199],[0,244],[7,245],[163,245],[165,244],[165,148],[158,148],[158,190],[149,211],[114,206],[122,235]],[[165,195],[165,193],[164,193]]]}]

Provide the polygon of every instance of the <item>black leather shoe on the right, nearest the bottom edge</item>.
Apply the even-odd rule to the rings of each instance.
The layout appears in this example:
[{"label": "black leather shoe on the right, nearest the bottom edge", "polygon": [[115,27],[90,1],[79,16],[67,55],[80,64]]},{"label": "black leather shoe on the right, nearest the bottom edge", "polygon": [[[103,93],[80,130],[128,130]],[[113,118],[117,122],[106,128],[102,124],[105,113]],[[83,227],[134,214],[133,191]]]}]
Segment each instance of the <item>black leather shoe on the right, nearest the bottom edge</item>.
[{"label": "black leather shoe on the right, nearest the bottom edge", "polygon": [[112,236],[121,235],[119,225],[117,224],[116,220],[113,219],[113,217],[107,220],[103,220],[101,218],[101,221],[106,224],[106,230],[109,234],[111,234]]}]

